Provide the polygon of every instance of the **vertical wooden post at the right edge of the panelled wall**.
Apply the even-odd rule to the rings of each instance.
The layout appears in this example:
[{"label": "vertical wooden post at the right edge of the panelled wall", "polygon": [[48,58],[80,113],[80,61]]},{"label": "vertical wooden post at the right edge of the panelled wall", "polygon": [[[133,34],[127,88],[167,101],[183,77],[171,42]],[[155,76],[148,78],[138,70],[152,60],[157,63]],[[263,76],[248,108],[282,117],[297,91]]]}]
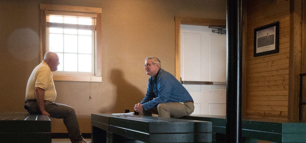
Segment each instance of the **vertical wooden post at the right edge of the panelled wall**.
[{"label": "vertical wooden post at the right edge of the panelled wall", "polygon": [[299,119],[299,74],[301,73],[302,1],[290,0],[290,54],[288,120]]}]

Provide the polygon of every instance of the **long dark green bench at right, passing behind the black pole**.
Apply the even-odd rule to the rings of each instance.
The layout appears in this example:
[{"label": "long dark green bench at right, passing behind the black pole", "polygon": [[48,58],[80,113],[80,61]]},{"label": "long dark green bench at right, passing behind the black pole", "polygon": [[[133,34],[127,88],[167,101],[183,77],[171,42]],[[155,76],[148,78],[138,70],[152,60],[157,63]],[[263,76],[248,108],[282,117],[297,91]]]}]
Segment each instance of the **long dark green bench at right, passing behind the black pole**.
[{"label": "long dark green bench at right, passing behind the black pole", "polygon": [[[213,142],[225,143],[226,116],[190,115],[181,119],[212,122]],[[274,143],[305,143],[306,122],[275,121],[267,119],[242,119],[242,139],[244,143],[257,143],[258,140]]]}]

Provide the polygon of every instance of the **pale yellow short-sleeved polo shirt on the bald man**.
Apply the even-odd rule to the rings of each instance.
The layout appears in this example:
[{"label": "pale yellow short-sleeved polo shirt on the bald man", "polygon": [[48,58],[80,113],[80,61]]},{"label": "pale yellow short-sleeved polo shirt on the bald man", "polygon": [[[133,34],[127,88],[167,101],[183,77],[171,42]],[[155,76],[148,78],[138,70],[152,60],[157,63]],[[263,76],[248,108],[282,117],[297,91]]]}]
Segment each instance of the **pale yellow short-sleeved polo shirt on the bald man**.
[{"label": "pale yellow short-sleeved polo shirt on the bald man", "polygon": [[36,99],[35,87],[43,88],[45,90],[45,99],[54,102],[56,98],[56,90],[53,82],[53,74],[47,63],[41,62],[32,71],[25,92],[25,100]]}]

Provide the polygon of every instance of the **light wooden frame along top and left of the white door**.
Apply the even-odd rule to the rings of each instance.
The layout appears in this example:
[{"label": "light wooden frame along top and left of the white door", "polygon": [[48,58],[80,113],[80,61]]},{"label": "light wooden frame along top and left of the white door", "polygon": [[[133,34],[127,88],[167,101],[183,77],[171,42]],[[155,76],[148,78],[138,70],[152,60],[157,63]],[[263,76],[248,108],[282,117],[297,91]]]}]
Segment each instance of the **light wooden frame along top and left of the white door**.
[{"label": "light wooden frame along top and left of the white door", "polygon": [[181,81],[181,24],[197,26],[226,27],[226,20],[201,19],[193,17],[174,16],[175,20],[175,78]]}]

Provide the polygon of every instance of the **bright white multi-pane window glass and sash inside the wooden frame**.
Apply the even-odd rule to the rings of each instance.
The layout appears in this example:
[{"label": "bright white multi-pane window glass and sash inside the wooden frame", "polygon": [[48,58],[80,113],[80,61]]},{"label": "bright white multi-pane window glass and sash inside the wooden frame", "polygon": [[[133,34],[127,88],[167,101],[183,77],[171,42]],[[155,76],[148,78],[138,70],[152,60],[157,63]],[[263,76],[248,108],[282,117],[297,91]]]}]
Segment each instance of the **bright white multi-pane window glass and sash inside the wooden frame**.
[{"label": "bright white multi-pane window glass and sash inside the wooden frame", "polygon": [[95,26],[95,18],[47,15],[47,51],[56,52],[61,63],[54,73],[94,75],[95,28],[88,25]]}]

